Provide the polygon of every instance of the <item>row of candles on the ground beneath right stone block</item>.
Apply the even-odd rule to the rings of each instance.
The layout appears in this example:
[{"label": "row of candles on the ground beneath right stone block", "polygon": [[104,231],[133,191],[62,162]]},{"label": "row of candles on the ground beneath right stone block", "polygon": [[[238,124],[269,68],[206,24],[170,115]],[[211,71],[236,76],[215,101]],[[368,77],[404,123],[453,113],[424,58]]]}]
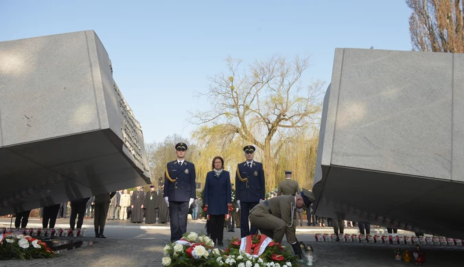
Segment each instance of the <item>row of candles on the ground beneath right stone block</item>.
[{"label": "row of candles on the ground beneath right stone block", "polygon": [[441,246],[463,246],[464,242],[461,239],[445,238],[444,236],[364,236],[360,234],[343,234],[338,236],[335,233],[322,234],[316,233],[314,236],[318,242],[333,242],[337,237],[340,242],[360,242],[371,244],[421,244],[421,245],[441,245]]}]

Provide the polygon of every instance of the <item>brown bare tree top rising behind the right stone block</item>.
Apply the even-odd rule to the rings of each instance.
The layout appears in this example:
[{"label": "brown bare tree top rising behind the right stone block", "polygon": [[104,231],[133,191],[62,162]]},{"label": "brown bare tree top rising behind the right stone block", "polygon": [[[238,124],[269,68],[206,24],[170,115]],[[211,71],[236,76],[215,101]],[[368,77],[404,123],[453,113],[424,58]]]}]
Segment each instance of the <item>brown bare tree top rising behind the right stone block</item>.
[{"label": "brown bare tree top rising behind the right stone block", "polygon": [[406,0],[413,50],[464,53],[461,0]]}]

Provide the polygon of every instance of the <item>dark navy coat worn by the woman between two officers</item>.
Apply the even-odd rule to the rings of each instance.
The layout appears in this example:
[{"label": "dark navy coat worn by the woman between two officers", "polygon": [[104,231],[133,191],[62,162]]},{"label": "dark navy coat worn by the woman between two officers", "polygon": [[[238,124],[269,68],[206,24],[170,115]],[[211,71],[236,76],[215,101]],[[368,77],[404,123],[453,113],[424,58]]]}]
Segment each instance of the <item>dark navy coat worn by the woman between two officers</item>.
[{"label": "dark navy coat worn by the woman between two officers", "polygon": [[208,204],[209,215],[229,214],[227,203],[232,203],[231,175],[222,170],[219,177],[210,171],[206,175],[203,204]]}]

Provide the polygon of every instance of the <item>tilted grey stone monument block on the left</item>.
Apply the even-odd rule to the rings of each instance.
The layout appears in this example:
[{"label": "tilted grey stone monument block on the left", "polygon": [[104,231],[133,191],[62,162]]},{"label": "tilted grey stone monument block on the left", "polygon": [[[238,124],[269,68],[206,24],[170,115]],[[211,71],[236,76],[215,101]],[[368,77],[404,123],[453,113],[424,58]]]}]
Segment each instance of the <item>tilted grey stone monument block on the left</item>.
[{"label": "tilted grey stone monument block on the left", "polygon": [[0,42],[0,215],[150,183],[94,31]]}]

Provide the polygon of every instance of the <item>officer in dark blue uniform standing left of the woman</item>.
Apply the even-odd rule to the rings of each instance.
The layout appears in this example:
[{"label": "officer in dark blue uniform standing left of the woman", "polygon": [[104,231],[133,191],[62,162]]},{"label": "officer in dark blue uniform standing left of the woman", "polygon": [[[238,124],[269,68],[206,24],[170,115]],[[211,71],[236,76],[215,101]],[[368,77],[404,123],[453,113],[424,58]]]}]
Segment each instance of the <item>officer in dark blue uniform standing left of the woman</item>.
[{"label": "officer in dark blue uniform standing left of the woman", "polygon": [[189,207],[196,197],[195,165],[185,160],[187,144],[176,144],[177,160],[167,162],[164,175],[164,199],[171,217],[171,242],[187,231]]}]

